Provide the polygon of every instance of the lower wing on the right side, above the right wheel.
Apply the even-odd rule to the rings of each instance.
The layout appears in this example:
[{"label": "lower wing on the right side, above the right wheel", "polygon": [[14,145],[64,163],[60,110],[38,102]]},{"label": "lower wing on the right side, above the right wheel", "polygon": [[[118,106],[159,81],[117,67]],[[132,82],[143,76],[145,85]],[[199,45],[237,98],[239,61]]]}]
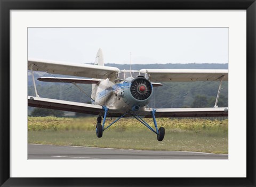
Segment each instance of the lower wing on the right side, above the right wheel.
[{"label": "lower wing on the right side, above the right wheel", "polygon": [[[145,108],[145,117],[152,117]],[[157,108],[155,117],[217,117],[228,116],[228,108]]]}]

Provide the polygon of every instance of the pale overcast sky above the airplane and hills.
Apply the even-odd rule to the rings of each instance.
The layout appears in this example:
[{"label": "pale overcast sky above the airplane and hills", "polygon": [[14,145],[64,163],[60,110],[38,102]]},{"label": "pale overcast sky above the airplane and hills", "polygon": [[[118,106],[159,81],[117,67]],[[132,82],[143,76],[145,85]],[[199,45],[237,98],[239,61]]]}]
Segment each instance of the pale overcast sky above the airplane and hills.
[{"label": "pale overcast sky above the airplane and hills", "polygon": [[228,28],[28,28],[28,57],[92,63],[228,63]]}]

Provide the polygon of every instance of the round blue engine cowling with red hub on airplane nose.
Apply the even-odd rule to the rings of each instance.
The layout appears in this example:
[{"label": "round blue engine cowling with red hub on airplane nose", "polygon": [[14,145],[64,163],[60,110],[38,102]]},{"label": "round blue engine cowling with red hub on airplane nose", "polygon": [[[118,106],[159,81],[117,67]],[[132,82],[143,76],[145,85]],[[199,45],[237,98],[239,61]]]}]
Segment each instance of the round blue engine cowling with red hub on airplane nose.
[{"label": "round blue engine cowling with red hub on airplane nose", "polygon": [[143,77],[138,77],[126,84],[124,89],[124,101],[127,105],[131,106],[132,110],[138,111],[139,107],[148,104],[149,99],[153,94],[153,85],[151,82]]}]

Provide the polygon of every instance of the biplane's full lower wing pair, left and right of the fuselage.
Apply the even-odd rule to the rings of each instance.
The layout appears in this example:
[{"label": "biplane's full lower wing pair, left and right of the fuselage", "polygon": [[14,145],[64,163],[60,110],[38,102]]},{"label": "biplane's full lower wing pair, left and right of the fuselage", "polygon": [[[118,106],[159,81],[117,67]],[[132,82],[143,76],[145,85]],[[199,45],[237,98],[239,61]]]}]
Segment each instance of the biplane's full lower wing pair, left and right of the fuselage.
[{"label": "biplane's full lower wing pair, left and right of the fuselage", "polygon": [[[77,103],[73,101],[48,99],[41,97],[28,96],[28,106],[38,108],[49,108],[60,111],[78,112],[92,115],[103,115],[104,109],[100,105],[86,103]],[[145,108],[139,115],[152,117],[153,109]],[[108,117],[120,117],[124,113],[109,109]],[[131,116],[127,114],[126,117]],[[228,108],[158,108],[155,117],[211,117],[211,116],[228,116]]]}]

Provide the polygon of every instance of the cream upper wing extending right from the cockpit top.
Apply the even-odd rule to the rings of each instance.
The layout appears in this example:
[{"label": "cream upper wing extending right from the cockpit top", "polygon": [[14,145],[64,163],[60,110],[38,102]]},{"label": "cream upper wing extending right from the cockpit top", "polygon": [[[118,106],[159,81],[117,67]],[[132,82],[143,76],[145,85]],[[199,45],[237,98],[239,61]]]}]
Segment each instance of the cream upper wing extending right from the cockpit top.
[{"label": "cream upper wing extending right from the cockpit top", "polygon": [[178,70],[178,69],[142,69],[151,81],[189,82],[189,81],[228,81],[228,70]]}]

